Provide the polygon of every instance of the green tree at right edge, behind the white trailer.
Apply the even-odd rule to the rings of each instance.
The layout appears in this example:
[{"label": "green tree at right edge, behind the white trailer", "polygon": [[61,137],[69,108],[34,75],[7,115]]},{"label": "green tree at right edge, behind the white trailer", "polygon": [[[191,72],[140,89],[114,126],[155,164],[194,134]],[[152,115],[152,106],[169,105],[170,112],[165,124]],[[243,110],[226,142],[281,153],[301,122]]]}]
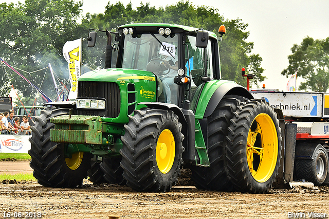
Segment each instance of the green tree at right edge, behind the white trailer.
[{"label": "green tree at right edge, behind the white trailer", "polygon": [[326,92],[329,86],[329,38],[314,40],[307,36],[300,45],[295,44],[288,56],[289,66],[281,74],[288,77],[297,72],[305,79],[299,89]]}]

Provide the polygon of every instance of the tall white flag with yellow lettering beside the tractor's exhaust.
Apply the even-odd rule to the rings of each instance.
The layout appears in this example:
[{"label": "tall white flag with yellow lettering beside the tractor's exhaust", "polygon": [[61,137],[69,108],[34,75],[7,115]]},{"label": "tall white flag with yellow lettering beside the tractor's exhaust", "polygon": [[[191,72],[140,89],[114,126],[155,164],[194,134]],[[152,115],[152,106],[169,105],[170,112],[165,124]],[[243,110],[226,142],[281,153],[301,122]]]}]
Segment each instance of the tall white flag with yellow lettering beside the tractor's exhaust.
[{"label": "tall white flag with yellow lettering beside the tractor's exhaust", "polygon": [[78,79],[81,75],[81,50],[82,38],[74,41],[67,41],[63,46],[63,56],[68,63],[69,79],[71,88],[68,95],[69,100],[78,96]]}]

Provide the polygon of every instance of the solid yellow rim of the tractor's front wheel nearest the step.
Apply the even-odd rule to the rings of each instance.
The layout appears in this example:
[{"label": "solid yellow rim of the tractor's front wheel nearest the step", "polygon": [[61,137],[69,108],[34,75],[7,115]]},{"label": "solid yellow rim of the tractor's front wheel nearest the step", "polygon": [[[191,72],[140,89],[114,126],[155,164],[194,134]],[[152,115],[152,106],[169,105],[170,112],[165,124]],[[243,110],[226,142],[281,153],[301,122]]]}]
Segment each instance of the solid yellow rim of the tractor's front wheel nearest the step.
[{"label": "solid yellow rim of the tractor's front wheel nearest the step", "polygon": [[156,144],[155,156],[160,172],[163,174],[168,173],[175,159],[175,139],[169,129],[161,132]]}]

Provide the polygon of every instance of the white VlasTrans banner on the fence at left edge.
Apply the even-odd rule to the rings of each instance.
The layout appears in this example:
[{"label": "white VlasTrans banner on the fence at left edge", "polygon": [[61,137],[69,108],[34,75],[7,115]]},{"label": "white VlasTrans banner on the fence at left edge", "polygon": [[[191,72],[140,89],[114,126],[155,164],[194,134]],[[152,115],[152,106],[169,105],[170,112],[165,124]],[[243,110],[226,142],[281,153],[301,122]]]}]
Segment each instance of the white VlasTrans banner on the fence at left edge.
[{"label": "white VlasTrans banner on the fence at left edge", "polygon": [[28,153],[30,135],[0,135],[0,153]]}]

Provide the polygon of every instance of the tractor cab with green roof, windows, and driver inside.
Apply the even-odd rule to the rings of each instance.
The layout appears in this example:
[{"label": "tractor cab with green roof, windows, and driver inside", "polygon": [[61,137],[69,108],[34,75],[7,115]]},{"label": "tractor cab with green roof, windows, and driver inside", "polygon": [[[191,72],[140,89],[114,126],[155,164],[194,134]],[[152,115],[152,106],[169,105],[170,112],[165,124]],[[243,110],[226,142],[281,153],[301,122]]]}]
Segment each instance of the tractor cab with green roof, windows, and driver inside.
[{"label": "tractor cab with green roof, windows, and driver inside", "polygon": [[212,32],[171,24],[127,24],[118,32],[116,68],[152,72],[156,102],[182,107],[188,100],[195,111],[205,82],[221,78],[217,37]]}]

